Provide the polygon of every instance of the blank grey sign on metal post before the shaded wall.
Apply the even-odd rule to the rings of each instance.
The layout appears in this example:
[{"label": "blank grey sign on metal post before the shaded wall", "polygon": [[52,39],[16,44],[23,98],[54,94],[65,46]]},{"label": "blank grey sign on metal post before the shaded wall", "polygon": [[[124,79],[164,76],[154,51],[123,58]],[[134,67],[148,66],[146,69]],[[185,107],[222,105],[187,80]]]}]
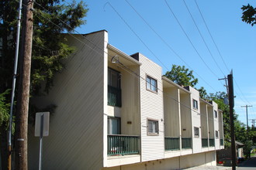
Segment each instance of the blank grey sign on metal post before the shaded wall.
[{"label": "blank grey sign on metal post before the shaded wall", "polygon": [[39,170],[42,169],[43,136],[49,135],[49,118],[50,112],[36,113],[35,136],[40,137]]}]

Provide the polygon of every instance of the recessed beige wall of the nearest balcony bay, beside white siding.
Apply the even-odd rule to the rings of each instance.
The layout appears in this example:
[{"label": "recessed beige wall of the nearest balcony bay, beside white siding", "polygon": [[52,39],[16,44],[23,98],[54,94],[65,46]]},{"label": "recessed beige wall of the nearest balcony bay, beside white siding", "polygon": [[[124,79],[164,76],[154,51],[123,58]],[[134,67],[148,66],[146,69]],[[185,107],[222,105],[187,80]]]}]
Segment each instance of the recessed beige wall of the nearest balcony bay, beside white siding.
[{"label": "recessed beige wall of the nearest balcony bay, beside white siding", "polygon": [[[107,114],[121,117],[121,134],[140,135],[139,77],[124,70],[117,63],[109,62],[108,66],[121,74],[122,107],[108,106]],[[139,74],[139,66],[129,66],[129,68]],[[130,124],[127,124],[128,121]]]}]

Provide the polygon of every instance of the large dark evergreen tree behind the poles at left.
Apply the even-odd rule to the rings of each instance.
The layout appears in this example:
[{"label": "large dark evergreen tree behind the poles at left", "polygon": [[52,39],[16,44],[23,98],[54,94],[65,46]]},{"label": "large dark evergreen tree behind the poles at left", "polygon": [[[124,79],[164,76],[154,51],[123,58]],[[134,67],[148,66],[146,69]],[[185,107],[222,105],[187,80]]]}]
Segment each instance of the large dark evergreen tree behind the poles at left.
[{"label": "large dark evergreen tree behind the poles at left", "polygon": [[[18,5],[19,2],[16,1],[0,2],[0,94],[6,97],[5,106],[9,103],[10,97],[4,92],[12,88]],[[63,39],[61,33],[72,32],[84,24],[88,12],[84,2],[73,1],[67,4],[60,0],[38,0],[34,3],[34,9],[31,96],[39,94],[41,88],[47,93],[54,85],[54,75],[63,70],[64,59],[74,53],[74,48],[67,46],[66,39]],[[2,117],[3,112],[0,114]],[[4,119],[0,125],[1,130],[6,129],[8,121]],[[6,136],[6,132],[0,133]],[[1,148],[5,147],[7,141],[1,142]],[[1,154],[7,155],[5,151],[1,151]],[[6,169],[4,158],[5,156],[2,156],[2,169]]]}]

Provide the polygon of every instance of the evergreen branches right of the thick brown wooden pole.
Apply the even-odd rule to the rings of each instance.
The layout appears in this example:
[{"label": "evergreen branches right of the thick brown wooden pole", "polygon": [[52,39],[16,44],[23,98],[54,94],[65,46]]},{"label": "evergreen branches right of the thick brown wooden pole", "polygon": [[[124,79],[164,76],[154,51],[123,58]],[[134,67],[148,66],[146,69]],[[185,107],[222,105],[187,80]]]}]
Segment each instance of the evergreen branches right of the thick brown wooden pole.
[{"label": "evergreen branches right of the thick brown wooden pole", "polygon": [[88,8],[84,2],[65,5],[56,0],[36,1],[34,8],[31,90],[38,93],[45,82],[43,89],[48,92],[54,85],[54,75],[64,68],[63,60],[74,53],[61,32],[72,32],[84,24]]}]

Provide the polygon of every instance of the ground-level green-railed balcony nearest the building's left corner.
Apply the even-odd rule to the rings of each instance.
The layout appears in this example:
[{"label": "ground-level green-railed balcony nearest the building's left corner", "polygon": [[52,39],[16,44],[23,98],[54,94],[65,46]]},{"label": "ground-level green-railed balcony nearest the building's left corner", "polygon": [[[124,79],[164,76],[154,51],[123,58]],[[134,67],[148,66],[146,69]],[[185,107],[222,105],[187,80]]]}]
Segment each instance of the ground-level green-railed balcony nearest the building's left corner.
[{"label": "ground-level green-railed balcony nearest the building's left corner", "polygon": [[108,155],[139,154],[139,136],[108,134]]}]

